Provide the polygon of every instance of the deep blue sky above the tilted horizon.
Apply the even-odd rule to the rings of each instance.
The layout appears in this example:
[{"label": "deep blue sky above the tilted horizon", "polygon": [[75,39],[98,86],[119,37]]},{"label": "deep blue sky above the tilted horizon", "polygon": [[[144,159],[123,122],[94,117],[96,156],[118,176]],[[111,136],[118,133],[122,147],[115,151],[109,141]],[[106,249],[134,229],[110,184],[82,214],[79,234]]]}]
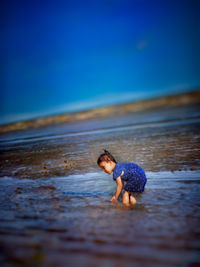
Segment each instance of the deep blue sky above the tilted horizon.
[{"label": "deep blue sky above the tilted horizon", "polygon": [[198,0],[4,2],[0,124],[200,86]]}]

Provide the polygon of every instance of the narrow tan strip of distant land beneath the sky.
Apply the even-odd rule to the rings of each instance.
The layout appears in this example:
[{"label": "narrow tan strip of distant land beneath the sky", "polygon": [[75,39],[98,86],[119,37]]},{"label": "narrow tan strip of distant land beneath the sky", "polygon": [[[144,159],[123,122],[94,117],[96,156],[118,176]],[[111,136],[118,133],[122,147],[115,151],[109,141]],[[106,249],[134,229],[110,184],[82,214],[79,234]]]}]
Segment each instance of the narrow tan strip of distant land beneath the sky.
[{"label": "narrow tan strip of distant land beneath the sky", "polygon": [[9,123],[6,125],[0,125],[0,134],[17,130],[25,130],[28,128],[40,128],[55,124],[58,125],[62,123],[83,121],[88,119],[105,118],[113,115],[125,115],[131,112],[193,104],[200,104],[200,89],[196,89],[195,91],[188,93],[98,107],[85,111],[64,113],[47,117],[45,116],[31,120]]}]

